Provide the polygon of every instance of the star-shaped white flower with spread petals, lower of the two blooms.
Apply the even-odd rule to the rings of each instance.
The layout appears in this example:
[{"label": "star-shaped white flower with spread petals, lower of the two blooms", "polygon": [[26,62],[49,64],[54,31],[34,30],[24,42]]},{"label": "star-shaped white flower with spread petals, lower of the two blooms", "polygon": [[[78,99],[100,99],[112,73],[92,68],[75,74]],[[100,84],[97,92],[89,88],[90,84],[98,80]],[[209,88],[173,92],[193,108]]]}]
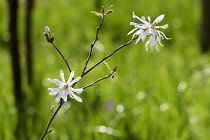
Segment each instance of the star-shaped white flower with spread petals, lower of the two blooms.
[{"label": "star-shaped white flower with spread petals, lower of the two blooms", "polygon": [[67,101],[67,96],[69,95],[71,98],[77,100],[78,102],[82,102],[82,99],[78,96],[76,96],[74,94],[74,92],[76,93],[82,93],[83,88],[79,88],[79,89],[74,89],[71,86],[78,82],[81,77],[77,77],[76,79],[74,79],[73,81],[71,81],[74,77],[74,71],[71,72],[69,79],[66,83],[65,78],[64,78],[64,72],[62,70],[60,70],[60,77],[61,80],[58,79],[50,79],[48,78],[48,81],[56,84],[57,86],[59,86],[58,88],[48,88],[48,90],[50,90],[51,92],[49,93],[50,95],[57,95],[58,96],[55,98],[55,102],[58,103],[60,102],[61,98],[66,102]]}]

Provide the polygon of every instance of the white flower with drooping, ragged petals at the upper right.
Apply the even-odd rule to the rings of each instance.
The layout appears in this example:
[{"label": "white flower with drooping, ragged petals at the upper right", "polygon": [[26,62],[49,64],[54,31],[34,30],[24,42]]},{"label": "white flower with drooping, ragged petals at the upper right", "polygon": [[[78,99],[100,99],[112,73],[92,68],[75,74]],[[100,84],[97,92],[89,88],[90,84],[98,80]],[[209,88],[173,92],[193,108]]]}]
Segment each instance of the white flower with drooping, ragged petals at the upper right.
[{"label": "white flower with drooping, ragged petals at the upper right", "polygon": [[150,45],[150,48],[153,49],[153,46],[155,46],[156,50],[159,51],[158,48],[158,43],[163,46],[161,44],[161,40],[163,39],[171,39],[171,38],[167,38],[166,35],[157,30],[158,28],[162,28],[162,29],[166,29],[168,28],[168,24],[165,24],[163,26],[156,26],[156,24],[158,24],[159,22],[161,22],[164,18],[164,14],[158,16],[155,21],[153,23],[151,22],[150,17],[148,16],[148,22],[146,21],[146,18],[143,16],[141,18],[139,18],[138,16],[136,16],[133,12],[133,18],[137,18],[138,20],[140,20],[142,23],[134,23],[134,22],[130,22],[130,25],[134,25],[134,29],[131,30],[129,34],[133,33],[134,31],[136,31],[133,35],[133,37],[135,37],[136,35],[138,35],[138,38],[136,40],[136,43],[138,43],[140,40],[144,41],[145,38],[147,37],[147,35],[150,35],[149,40],[146,42],[146,50],[148,51],[148,46]]}]

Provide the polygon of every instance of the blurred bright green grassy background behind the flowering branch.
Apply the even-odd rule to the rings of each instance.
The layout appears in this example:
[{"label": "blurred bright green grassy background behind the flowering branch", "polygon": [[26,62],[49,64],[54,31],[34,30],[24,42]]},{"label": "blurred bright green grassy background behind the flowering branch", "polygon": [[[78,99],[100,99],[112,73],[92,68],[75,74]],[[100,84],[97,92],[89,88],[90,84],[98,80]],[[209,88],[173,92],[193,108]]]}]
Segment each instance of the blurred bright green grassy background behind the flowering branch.
[{"label": "blurred bright green grassy background behind the flowering branch", "polygon": [[[20,137],[14,135],[17,124],[12,71],[8,48],[8,6],[0,1],[0,139],[38,139],[51,116],[51,106],[58,106],[48,87],[56,87],[47,78],[60,79],[59,71],[68,69],[46,42],[43,32],[48,25],[55,34],[55,44],[75,71],[82,72],[90,43],[100,18],[97,0],[36,0],[33,10],[33,88],[27,85],[24,46],[24,0],[19,1],[18,37],[21,73],[25,94],[25,127]],[[133,29],[132,11],[138,16],[160,14],[169,24],[162,30],[172,40],[162,41],[160,52],[145,50],[145,42],[131,44],[106,62],[118,65],[117,75],[87,88],[79,95],[83,102],[67,102],[50,129],[47,140],[207,140],[210,137],[210,57],[200,53],[199,0],[101,0],[114,12],[106,17],[93,50],[89,67],[128,42]],[[91,71],[77,84],[83,87],[110,71],[104,64]]]}]

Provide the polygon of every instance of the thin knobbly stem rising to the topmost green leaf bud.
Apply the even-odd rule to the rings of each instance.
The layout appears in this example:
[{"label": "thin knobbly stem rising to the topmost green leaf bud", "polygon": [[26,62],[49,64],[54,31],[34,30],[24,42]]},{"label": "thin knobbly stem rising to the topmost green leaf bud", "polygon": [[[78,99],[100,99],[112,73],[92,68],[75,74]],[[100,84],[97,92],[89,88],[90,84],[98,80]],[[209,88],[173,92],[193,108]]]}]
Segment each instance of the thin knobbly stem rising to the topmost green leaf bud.
[{"label": "thin knobbly stem rising to the topmost green leaf bud", "polygon": [[90,52],[89,52],[89,55],[88,55],[87,60],[86,60],[86,62],[85,62],[85,65],[84,65],[84,68],[83,68],[83,71],[82,71],[82,74],[81,74],[81,75],[84,74],[84,72],[85,72],[85,70],[86,70],[86,68],[87,68],[88,62],[89,62],[89,60],[90,60],[90,57],[92,56],[93,47],[94,47],[95,43],[96,43],[97,40],[98,40],[98,33],[99,33],[99,30],[101,29],[103,23],[104,23],[104,19],[105,19],[105,15],[102,16],[101,23],[100,23],[100,25],[96,28],[95,39],[94,39],[93,43],[90,44]]}]

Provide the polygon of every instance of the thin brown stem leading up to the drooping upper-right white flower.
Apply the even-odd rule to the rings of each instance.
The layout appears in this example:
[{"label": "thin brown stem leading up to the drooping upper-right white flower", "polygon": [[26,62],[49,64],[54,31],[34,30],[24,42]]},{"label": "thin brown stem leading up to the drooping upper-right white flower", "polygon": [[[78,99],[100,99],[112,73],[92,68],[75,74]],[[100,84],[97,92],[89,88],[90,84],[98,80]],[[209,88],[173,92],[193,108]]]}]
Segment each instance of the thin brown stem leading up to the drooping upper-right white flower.
[{"label": "thin brown stem leading up to the drooping upper-right white flower", "polygon": [[138,36],[132,38],[130,41],[128,41],[127,43],[125,43],[124,45],[121,45],[120,47],[118,47],[116,50],[114,50],[112,53],[110,53],[109,55],[107,55],[106,57],[104,57],[103,59],[101,59],[98,63],[96,63],[94,66],[92,66],[90,69],[88,69],[86,72],[84,72],[81,77],[85,76],[87,73],[89,73],[91,70],[93,70],[96,66],[98,66],[100,63],[102,63],[104,60],[106,60],[107,58],[111,57],[113,54],[115,54],[117,51],[119,51],[120,49],[124,48],[125,46],[128,46],[129,44],[131,44],[134,40],[136,40],[138,38]]}]

